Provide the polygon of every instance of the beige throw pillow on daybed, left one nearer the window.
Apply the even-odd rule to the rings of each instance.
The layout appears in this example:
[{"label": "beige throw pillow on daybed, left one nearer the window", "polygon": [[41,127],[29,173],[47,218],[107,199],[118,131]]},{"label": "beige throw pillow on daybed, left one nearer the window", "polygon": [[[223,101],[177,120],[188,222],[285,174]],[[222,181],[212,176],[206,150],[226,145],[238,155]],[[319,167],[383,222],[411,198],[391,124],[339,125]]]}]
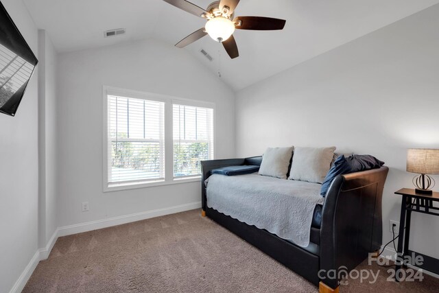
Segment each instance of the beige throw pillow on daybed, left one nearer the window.
[{"label": "beige throw pillow on daybed, left one nearer the window", "polygon": [[259,175],[286,179],[293,150],[294,147],[268,148],[265,150],[259,168]]}]

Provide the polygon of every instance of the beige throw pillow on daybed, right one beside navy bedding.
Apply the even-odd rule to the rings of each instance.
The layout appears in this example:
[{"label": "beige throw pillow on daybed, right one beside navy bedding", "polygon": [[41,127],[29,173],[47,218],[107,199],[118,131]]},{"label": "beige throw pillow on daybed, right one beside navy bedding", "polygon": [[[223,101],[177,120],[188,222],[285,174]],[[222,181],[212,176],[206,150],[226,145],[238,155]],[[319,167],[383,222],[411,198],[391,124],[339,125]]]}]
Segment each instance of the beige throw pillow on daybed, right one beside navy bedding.
[{"label": "beige throw pillow on daybed, right one beside navy bedding", "polygon": [[289,170],[292,180],[323,183],[327,176],[335,147],[331,148],[300,148],[294,150],[293,163]]}]

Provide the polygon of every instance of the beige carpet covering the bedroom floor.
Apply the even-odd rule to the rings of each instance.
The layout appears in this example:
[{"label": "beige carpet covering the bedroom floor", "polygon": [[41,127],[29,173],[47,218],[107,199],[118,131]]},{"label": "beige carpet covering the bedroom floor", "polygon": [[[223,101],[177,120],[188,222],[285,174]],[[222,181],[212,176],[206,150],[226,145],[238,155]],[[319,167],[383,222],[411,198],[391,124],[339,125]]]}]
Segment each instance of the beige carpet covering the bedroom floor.
[{"label": "beige carpet covering the bedroom floor", "polygon": [[[370,269],[367,264],[362,267]],[[379,267],[373,266],[374,270]],[[340,292],[437,292],[439,280],[375,284]],[[200,210],[60,237],[23,292],[318,292]]]}]

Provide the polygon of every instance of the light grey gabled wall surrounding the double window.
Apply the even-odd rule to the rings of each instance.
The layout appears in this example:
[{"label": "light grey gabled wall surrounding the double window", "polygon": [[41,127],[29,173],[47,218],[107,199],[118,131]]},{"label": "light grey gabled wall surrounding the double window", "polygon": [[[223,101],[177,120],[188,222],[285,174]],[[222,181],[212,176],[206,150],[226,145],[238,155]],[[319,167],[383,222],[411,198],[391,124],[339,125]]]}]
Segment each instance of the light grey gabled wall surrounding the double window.
[{"label": "light grey gabled wall surrounding the double window", "polygon": [[215,102],[217,158],[235,154],[233,91],[185,50],[153,39],[58,57],[59,226],[199,202],[200,182],[102,192],[102,86]]}]

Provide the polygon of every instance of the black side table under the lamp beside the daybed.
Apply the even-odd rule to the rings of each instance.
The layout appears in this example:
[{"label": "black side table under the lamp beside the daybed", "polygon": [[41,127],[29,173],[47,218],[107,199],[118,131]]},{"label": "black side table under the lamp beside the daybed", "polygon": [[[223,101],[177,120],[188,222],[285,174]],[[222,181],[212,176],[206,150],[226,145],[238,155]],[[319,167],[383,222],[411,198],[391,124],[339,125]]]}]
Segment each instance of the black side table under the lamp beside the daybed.
[{"label": "black side table under the lamp beside the daybed", "polygon": [[[423,264],[416,265],[423,270],[429,270],[435,274],[439,274],[439,259],[423,255],[422,253],[416,253],[409,249],[410,238],[410,219],[412,218],[412,211],[417,213],[427,213],[428,215],[439,215],[439,208],[433,206],[433,202],[439,202],[439,192],[433,192],[432,195],[416,194],[414,189],[403,188],[396,191],[395,194],[403,196],[401,202],[401,218],[399,220],[399,240],[397,255],[404,259],[405,256],[410,256],[414,261],[416,256],[423,257]],[[409,263],[408,261],[396,261],[396,281],[400,281],[401,277],[399,272],[401,266],[406,267],[407,264],[415,266],[415,263]]]}]

